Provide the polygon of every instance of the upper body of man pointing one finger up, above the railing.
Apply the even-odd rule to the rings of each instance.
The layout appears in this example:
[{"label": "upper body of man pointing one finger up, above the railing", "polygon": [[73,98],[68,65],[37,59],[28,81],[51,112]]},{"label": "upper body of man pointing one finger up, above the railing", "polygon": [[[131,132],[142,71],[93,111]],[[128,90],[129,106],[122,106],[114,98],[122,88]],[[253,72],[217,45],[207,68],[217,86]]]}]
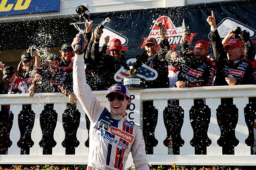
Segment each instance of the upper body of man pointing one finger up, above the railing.
[{"label": "upper body of man pointing one finger up, above the railing", "polygon": [[216,76],[214,85],[248,85],[254,83],[253,63],[243,58],[241,40],[232,39],[222,45],[218,34],[215,16],[207,18],[211,26],[213,51],[216,51]]}]

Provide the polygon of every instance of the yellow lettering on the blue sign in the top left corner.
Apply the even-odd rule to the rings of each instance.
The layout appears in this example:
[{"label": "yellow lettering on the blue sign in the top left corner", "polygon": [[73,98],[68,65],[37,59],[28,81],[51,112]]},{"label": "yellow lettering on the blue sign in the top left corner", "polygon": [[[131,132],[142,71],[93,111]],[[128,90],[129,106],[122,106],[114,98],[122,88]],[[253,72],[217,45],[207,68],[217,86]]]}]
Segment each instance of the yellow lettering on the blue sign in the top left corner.
[{"label": "yellow lettering on the blue sign in the top left corner", "polygon": [[17,0],[16,4],[13,4],[13,3],[8,4],[8,0],[2,0],[0,3],[0,12],[11,11],[13,6],[15,11],[27,9],[29,8],[31,1],[32,0]]}]

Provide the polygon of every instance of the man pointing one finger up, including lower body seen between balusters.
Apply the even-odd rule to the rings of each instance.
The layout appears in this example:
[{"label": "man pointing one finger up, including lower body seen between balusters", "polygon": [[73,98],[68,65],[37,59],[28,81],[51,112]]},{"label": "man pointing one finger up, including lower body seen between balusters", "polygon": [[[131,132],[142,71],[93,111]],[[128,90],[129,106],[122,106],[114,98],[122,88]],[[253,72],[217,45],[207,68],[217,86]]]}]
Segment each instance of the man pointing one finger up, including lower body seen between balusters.
[{"label": "man pointing one finger up, including lower body seen between balusters", "polygon": [[[216,77],[214,85],[248,85],[254,83],[255,69],[253,63],[243,58],[241,40],[232,39],[222,45],[218,34],[214,12],[207,18],[211,26],[212,48],[216,58]],[[221,105],[216,110],[221,137],[217,143],[222,147],[222,154],[234,154],[234,147],[239,144],[236,139],[235,128],[238,122],[238,109],[233,105],[233,98],[222,98]],[[249,136],[245,143],[251,147],[253,153],[253,114],[244,109],[245,121],[249,129]],[[228,122],[228,123],[227,123]]]}]

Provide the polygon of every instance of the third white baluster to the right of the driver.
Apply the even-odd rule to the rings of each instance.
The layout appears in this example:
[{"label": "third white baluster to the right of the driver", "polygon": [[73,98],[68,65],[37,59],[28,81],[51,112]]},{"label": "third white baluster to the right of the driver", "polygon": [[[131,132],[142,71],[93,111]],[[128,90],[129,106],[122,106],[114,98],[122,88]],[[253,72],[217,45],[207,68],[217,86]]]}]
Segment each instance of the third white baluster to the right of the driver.
[{"label": "third white baluster to the right of the driver", "polygon": [[222,155],[222,149],[217,144],[217,140],[221,136],[221,130],[218,126],[216,109],[221,104],[221,99],[206,99],[206,105],[211,109],[211,121],[208,129],[209,139],[212,140],[212,144],[207,147],[207,155]]}]

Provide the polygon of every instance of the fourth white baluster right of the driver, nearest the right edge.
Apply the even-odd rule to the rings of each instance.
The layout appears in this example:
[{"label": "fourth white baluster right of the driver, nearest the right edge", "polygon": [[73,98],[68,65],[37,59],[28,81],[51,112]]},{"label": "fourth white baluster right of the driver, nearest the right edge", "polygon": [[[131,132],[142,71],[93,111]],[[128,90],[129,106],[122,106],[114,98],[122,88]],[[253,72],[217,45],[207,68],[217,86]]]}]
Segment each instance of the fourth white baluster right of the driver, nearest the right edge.
[{"label": "fourth white baluster right of the driver, nearest the right edge", "polygon": [[249,135],[248,127],[245,123],[244,108],[248,103],[248,98],[233,98],[234,105],[238,108],[238,123],[236,125],[236,138],[239,144],[235,147],[235,155],[250,155],[250,146],[245,144],[245,139]]}]

